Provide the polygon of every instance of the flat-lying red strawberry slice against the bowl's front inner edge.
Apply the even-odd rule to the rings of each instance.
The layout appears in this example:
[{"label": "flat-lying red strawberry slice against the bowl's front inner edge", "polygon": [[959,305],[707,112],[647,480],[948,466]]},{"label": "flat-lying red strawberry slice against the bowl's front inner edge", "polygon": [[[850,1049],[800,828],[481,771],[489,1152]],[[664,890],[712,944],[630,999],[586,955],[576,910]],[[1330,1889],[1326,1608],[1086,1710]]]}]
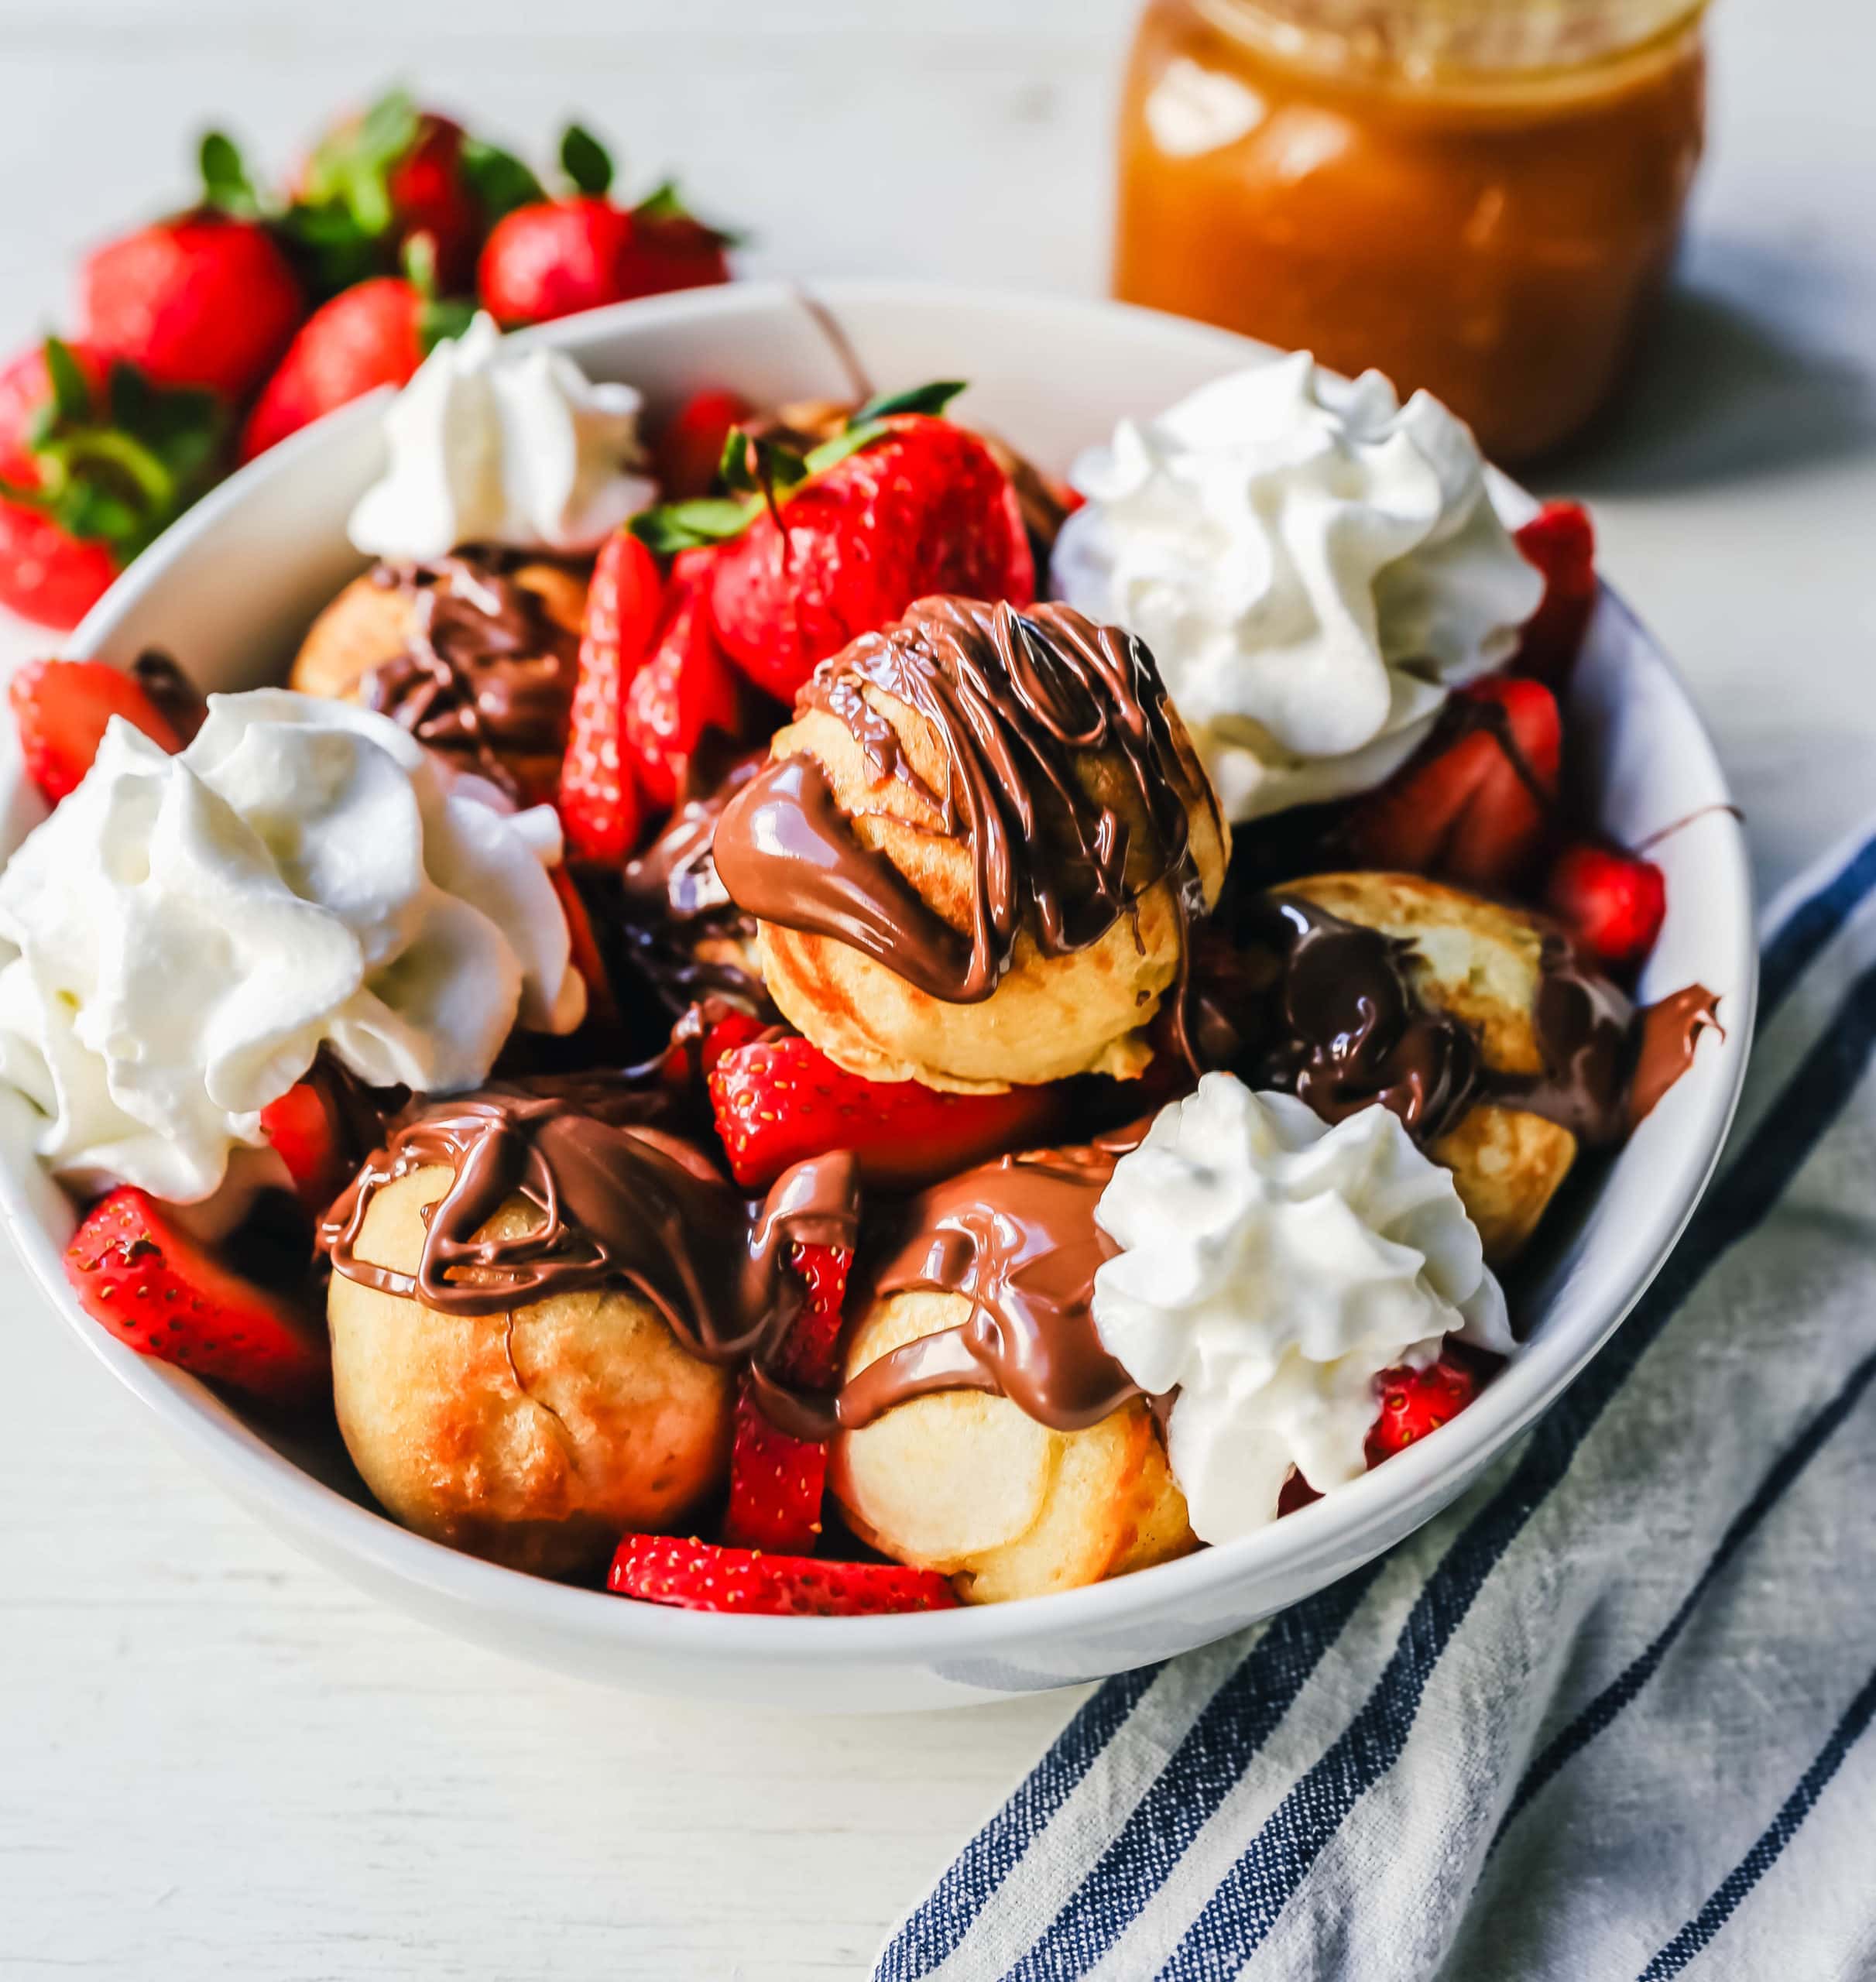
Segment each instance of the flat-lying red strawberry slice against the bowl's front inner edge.
[{"label": "flat-lying red strawberry slice against the bowl's front inner edge", "polygon": [[607,1588],[641,1603],[742,1611],[746,1617],[884,1617],[954,1609],[958,1597],[936,1570],[896,1562],[815,1562],[762,1550],[629,1534],[613,1556]]}]

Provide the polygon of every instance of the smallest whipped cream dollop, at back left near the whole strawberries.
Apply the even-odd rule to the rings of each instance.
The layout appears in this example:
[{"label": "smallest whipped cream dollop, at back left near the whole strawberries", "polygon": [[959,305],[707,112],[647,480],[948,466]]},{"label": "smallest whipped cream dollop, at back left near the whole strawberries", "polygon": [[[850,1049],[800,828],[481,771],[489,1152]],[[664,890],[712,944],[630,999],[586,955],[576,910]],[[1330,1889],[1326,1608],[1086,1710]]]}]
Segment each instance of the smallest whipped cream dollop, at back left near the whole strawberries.
[{"label": "smallest whipped cream dollop, at back left near the whole strawberries", "polygon": [[464,543],[597,551],[656,501],[641,470],[643,398],[593,385],[563,351],[516,351],[494,317],[444,339],[385,414],[391,464],[351,511],[369,557]]}]

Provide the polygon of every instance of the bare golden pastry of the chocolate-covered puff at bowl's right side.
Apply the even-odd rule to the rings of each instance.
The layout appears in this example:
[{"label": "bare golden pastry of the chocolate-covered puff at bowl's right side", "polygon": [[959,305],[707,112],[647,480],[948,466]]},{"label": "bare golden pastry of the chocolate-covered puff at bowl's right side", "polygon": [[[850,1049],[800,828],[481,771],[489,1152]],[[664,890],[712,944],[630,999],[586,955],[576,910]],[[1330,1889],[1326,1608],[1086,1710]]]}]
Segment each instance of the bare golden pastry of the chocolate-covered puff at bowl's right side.
[{"label": "bare golden pastry of the chocolate-covered puff at bowl's right side", "polygon": [[[1543,1072],[1533,1013],[1545,926],[1535,916],[1420,874],[1315,874],[1283,890],[1408,943],[1416,995],[1471,1027],[1487,1068]],[[1454,1173],[1485,1261],[1503,1266],[1523,1251],[1571,1173],[1577,1138],[1523,1108],[1473,1102],[1426,1154]]]}]

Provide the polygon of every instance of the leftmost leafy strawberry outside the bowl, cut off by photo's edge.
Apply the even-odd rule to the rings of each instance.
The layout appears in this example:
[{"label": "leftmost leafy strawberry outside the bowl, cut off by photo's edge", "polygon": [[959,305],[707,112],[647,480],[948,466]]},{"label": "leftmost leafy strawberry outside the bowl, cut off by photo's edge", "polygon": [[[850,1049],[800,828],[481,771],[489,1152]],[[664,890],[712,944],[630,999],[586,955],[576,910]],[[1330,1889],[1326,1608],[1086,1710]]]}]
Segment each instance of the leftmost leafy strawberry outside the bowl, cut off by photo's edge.
[{"label": "leftmost leafy strawberry outside the bowl, cut off by photo's edge", "polygon": [[212,480],[220,402],[48,337],[0,371],[0,605],[75,626]]}]

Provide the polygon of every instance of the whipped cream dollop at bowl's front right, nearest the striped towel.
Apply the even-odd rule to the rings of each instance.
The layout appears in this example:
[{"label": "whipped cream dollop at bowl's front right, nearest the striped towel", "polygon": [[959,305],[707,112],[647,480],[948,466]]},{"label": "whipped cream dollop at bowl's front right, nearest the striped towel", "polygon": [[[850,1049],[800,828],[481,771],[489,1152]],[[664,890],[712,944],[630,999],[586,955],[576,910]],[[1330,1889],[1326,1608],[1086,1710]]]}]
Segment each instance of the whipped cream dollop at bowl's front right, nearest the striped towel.
[{"label": "whipped cream dollop at bowl's front right, nearest the striped towel", "polygon": [[1178,1389],[1166,1457],[1206,1542],[1275,1520],[1291,1467],[1319,1492],[1362,1473],[1382,1370],[1424,1368],[1450,1334],[1513,1348],[1452,1175],[1380,1106],[1331,1128],[1206,1074],[1095,1217],[1122,1247],[1095,1328],[1142,1389]]}]

